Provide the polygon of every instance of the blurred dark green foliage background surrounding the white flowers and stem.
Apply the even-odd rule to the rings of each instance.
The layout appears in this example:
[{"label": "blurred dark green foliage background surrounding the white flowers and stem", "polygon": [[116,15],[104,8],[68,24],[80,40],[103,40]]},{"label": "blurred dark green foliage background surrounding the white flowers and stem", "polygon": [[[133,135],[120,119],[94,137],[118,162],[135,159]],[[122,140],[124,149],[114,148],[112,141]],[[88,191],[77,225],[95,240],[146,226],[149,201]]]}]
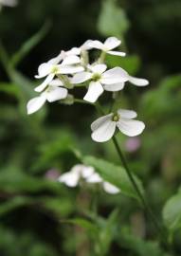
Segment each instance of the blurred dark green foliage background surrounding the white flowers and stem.
[{"label": "blurred dark green foliage background surrounding the white flowers and stem", "polygon": [[[1,256],[181,255],[180,31],[180,0],[20,0],[16,8],[2,9]],[[118,135],[118,141],[172,250],[157,242],[136,200],[56,181],[80,163],[80,154],[120,164],[112,142],[91,140],[90,123],[97,117],[92,106],[55,102],[26,113],[39,64],[62,49],[109,36],[121,39],[127,57],[109,57],[107,64],[150,81],[121,93],[118,105],[135,109],[146,129],[135,139]],[[84,91],[76,94],[82,98]],[[101,101],[106,108],[107,98]]]}]

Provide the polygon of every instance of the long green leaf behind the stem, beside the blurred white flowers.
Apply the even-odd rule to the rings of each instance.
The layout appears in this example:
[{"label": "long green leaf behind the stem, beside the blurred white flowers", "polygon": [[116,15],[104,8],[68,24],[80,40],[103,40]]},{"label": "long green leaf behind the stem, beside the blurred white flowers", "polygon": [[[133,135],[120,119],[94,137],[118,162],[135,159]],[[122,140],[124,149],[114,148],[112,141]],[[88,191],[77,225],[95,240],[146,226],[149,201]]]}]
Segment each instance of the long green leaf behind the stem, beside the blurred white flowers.
[{"label": "long green leaf behind the stem, beside the blurred white flowers", "polygon": [[[103,179],[117,186],[123,194],[138,200],[135,189],[124,168],[94,156],[85,156],[82,161],[86,165],[93,166]],[[142,184],[135,174],[134,178],[139,190],[143,192]]]}]

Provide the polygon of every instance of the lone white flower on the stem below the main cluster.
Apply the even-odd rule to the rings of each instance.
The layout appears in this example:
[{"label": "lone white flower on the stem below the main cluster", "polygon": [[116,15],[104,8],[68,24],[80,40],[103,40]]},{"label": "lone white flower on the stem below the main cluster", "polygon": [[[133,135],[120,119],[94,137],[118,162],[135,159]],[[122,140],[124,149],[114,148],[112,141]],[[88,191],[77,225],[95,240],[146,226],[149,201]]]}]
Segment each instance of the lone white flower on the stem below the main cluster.
[{"label": "lone white flower on the stem below the main cluster", "polygon": [[142,121],[135,120],[136,112],[132,110],[119,109],[116,114],[111,113],[95,120],[91,124],[92,139],[104,142],[114,136],[116,127],[124,135],[135,137],[142,133],[145,125]]}]

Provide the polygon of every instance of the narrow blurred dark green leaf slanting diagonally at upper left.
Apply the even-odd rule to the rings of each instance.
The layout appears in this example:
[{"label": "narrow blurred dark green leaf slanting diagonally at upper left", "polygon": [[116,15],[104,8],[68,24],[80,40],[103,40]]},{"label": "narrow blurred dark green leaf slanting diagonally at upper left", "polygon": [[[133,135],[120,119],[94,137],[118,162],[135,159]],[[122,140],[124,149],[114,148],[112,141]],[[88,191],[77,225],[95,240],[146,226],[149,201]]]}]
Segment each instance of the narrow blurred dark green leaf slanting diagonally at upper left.
[{"label": "narrow blurred dark green leaf slanting diagonally at upper left", "polygon": [[14,67],[17,64],[19,64],[27,56],[27,54],[31,51],[31,49],[37,46],[42,41],[42,39],[45,37],[46,33],[48,32],[49,27],[50,27],[50,24],[45,23],[45,25],[41,27],[41,29],[36,34],[30,37],[23,44],[23,46],[21,46],[20,49],[11,57],[10,64]]}]

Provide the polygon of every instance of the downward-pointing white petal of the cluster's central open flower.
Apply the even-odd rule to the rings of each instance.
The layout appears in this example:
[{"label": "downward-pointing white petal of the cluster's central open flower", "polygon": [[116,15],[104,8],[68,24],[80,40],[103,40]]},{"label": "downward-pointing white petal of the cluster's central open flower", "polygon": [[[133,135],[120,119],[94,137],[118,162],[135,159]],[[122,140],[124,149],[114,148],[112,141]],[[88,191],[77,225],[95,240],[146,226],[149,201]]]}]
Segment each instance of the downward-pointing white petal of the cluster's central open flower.
[{"label": "downward-pointing white petal of the cluster's central open flower", "polygon": [[88,91],[84,96],[84,101],[96,102],[103,92],[103,87],[100,82],[90,82]]}]

